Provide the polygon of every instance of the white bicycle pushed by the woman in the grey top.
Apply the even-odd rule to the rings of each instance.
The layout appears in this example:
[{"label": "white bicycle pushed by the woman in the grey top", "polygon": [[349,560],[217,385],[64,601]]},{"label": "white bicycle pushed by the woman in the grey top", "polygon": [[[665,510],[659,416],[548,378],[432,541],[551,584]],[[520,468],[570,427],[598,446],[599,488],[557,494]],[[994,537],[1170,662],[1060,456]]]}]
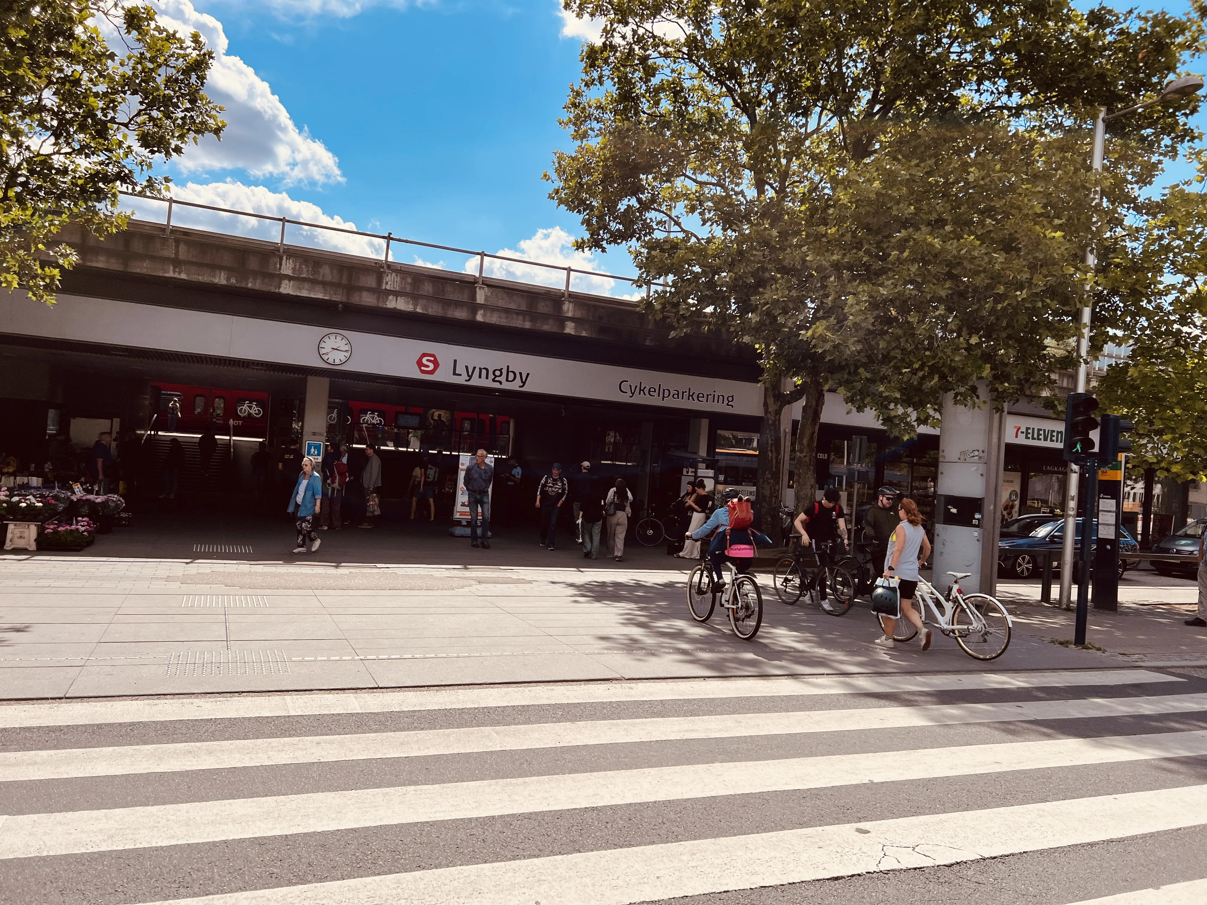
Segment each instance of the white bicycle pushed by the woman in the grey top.
[{"label": "white bicycle pushed by the woman in the grey top", "polygon": [[[949,638],[954,637],[969,656],[976,660],[996,660],[1010,646],[1010,629],[1014,625],[1010,614],[996,597],[987,594],[966,595],[960,589],[960,579],[968,578],[972,572],[947,572],[947,574],[951,576],[952,583],[946,597],[925,578],[919,580],[914,606],[922,617],[922,623],[934,625]],[[928,606],[931,618],[926,614]],[[876,618],[884,631],[885,615],[877,613]],[[917,635],[917,627],[909,619],[902,617],[896,623],[893,641],[909,641]]]}]

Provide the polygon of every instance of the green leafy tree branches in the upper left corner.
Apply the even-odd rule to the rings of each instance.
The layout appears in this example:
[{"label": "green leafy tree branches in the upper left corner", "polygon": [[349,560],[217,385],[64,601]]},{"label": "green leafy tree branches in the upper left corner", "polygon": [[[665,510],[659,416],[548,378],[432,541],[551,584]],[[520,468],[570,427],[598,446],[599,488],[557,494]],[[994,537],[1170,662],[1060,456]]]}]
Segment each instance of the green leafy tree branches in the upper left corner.
[{"label": "green leafy tree branches in the upper left corner", "polygon": [[0,0],[0,286],[53,303],[63,227],[124,228],[118,188],[161,193],[157,158],[221,135],[214,53],[119,0]]}]

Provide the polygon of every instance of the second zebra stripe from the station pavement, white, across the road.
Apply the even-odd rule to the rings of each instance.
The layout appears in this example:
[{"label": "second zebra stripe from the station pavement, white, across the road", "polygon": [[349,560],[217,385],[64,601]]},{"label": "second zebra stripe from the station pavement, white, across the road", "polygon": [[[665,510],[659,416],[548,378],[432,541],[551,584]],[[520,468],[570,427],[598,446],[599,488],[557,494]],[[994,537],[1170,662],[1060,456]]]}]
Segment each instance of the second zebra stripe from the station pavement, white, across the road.
[{"label": "second zebra stripe from the station pavement, white, across the road", "polygon": [[433,757],[530,748],[568,748],[688,738],[734,738],[961,723],[1013,723],[1191,713],[1205,710],[1207,710],[1207,694],[1190,694],[1154,697],[873,707],[846,711],[736,713],[707,717],[537,723],[463,729],[421,729],[403,732],[19,751],[0,753],[0,781],[63,780],[82,776],[218,770],[274,764]]}]

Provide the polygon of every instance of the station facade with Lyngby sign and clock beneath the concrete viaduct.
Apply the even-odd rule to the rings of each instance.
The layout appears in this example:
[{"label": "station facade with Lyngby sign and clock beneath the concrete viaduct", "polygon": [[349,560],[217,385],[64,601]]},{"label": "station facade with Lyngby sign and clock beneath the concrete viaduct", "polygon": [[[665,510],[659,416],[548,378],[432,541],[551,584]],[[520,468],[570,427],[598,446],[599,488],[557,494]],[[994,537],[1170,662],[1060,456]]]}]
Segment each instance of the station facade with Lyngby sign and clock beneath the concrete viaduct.
[{"label": "station facade with Lyngby sign and clock beneath the concrete viaduct", "polygon": [[[750,351],[674,337],[632,302],[138,222],[75,244],[56,305],[2,303],[0,453],[18,471],[45,472],[65,438],[87,448],[109,430],[119,456],[139,445],[151,490],[180,439],[188,489],[211,431],[223,463],[211,492],[250,492],[261,444],[292,485],[315,439],[377,446],[387,501],[416,466],[436,467],[444,518],[457,454],[478,448],[521,468],[515,495],[583,460],[655,510],[690,474],[753,490]],[[1038,408],[1008,415],[1004,515],[1059,512],[1062,430]],[[817,456],[815,494],[839,486],[855,508],[890,484],[933,514],[937,432],[891,438],[830,393]]]}]

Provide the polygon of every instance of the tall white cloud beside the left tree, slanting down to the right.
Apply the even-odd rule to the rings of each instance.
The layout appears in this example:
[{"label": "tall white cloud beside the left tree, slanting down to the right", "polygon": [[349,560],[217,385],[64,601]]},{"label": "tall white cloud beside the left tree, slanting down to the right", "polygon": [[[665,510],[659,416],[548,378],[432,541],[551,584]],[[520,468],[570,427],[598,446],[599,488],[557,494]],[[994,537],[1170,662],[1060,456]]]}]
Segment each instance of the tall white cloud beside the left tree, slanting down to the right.
[{"label": "tall white cloud beside the left tree, slanting down to the right", "polygon": [[[315,1],[338,5],[338,0]],[[304,128],[298,129],[268,82],[241,59],[227,54],[221,22],[198,12],[189,0],[152,0],[152,4],[161,23],[182,34],[198,31],[214,51],[205,93],[226,107],[222,140],[206,136],[188,147],[177,159],[181,170],[244,170],[256,179],[279,179],[286,186],[343,181],[336,156]]]}]

